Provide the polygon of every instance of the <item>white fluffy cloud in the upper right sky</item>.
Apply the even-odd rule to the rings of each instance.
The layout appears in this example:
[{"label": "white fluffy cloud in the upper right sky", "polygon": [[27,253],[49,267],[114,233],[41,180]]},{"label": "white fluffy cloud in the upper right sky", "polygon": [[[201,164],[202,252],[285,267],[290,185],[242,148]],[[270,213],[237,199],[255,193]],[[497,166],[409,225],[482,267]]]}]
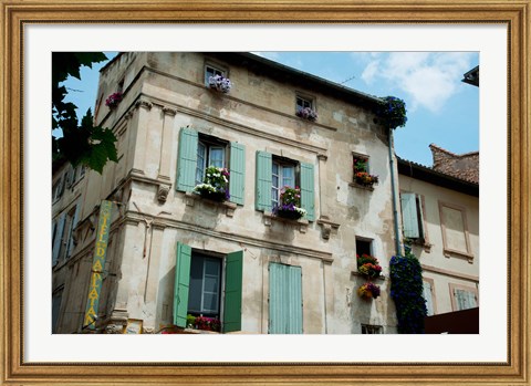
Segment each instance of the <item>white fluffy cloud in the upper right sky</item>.
[{"label": "white fluffy cloud in the upper right sky", "polygon": [[387,81],[408,96],[408,109],[439,112],[458,92],[462,74],[471,67],[468,52],[393,52],[371,60],[362,74],[367,83]]}]

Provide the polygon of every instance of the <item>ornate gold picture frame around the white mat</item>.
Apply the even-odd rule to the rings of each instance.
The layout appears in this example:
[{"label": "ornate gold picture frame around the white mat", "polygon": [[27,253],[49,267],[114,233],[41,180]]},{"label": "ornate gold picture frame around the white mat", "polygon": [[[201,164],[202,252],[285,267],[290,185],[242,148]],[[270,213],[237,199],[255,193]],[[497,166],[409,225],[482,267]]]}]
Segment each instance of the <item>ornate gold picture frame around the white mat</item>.
[{"label": "ornate gold picture frame around the white mat", "polygon": [[[1,0],[1,378],[6,385],[530,385],[530,0]],[[508,347],[506,363],[24,362],[24,27],[61,23],[503,24],[508,28]],[[497,257],[499,261],[503,258]],[[503,262],[506,262],[503,260]],[[502,310],[500,310],[502,311]]]}]

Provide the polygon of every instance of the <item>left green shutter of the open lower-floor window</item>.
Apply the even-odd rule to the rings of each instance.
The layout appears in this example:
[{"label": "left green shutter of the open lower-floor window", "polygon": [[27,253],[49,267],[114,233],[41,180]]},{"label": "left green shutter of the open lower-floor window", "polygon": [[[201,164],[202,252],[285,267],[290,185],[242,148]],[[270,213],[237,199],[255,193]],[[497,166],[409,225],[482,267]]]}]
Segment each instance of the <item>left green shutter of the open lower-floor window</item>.
[{"label": "left green shutter of the open lower-floor window", "polygon": [[174,288],[174,324],[186,327],[188,314],[188,292],[190,286],[191,248],[177,242]]}]

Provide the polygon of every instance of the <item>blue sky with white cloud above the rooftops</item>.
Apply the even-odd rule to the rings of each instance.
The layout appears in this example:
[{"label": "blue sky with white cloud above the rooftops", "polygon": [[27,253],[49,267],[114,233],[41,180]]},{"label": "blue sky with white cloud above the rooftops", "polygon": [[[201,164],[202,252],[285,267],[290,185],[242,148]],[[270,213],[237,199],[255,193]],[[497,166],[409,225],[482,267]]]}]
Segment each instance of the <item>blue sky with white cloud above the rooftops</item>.
[{"label": "blue sky with white cloud above the rooftops", "polygon": [[[116,53],[107,53],[114,58]],[[479,87],[461,82],[479,64],[476,52],[257,52],[284,65],[375,96],[406,102],[407,124],[395,131],[395,152],[431,166],[429,144],[464,154],[479,150]],[[83,115],[94,109],[98,71],[67,80],[69,100]],[[237,85],[236,85],[237,86]]]}]

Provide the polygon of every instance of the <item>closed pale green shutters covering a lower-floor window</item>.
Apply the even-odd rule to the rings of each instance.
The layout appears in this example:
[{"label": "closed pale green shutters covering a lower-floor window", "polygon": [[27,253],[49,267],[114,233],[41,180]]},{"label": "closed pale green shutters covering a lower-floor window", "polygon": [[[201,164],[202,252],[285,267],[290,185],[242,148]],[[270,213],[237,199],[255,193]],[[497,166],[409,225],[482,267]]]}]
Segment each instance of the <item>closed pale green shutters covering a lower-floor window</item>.
[{"label": "closed pale green shutters covering a lower-floor window", "polygon": [[269,264],[269,333],[302,334],[302,268]]}]

